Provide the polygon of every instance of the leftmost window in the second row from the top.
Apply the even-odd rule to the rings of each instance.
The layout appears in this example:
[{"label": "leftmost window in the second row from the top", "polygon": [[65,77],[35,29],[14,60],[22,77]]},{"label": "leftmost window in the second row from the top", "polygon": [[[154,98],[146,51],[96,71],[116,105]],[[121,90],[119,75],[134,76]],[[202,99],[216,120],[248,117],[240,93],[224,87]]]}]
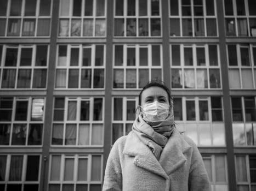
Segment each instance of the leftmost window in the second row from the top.
[{"label": "leftmost window in the second row from the top", "polygon": [[[48,45],[0,46],[1,88],[45,88]],[[0,58],[1,58],[0,53]],[[1,62],[1,59],[0,59]]]}]

